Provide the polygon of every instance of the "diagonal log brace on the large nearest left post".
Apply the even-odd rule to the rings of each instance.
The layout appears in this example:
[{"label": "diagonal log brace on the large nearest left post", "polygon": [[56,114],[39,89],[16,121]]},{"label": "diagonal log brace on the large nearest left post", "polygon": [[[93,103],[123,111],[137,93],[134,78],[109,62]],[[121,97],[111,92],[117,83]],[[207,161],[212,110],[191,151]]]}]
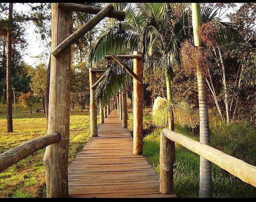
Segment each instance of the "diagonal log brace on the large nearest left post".
[{"label": "diagonal log brace on the large nearest left post", "polygon": [[86,24],[76,30],[73,34],[68,36],[62,43],[60,43],[52,52],[51,54],[57,57],[63,50],[71,46],[77,39],[82,37],[92,28],[94,28],[104,17],[106,17],[110,11],[114,9],[113,5],[108,3],[106,6],[99,11],[95,16],[93,16]]}]

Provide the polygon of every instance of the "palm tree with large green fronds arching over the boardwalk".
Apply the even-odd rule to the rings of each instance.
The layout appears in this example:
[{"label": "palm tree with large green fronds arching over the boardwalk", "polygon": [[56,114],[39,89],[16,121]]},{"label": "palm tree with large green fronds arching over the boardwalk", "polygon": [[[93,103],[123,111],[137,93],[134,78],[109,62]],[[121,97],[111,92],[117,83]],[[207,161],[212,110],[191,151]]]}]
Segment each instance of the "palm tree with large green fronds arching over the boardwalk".
[{"label": "palm tree with large green fronds arching over the boardwalk", "polygon": [[[93,46],[90,51],[90,60],[94,58],[97,63],[104,58],[105,54],[120,54],[124,47],[128,48],[129,52],[133,50],[143,52],[146,68],[150,67],[148,64],[156,63],[165,71],[167,98],[169,102],[172,102],[172,66],[179,64],[181,41],[189,36],[188,13],[181,15],[175,21],[169,3],[137,3],[135,7],[136,12],[132,5],[126,9],[126,21],[123,25],[126,33],[119,36],[113,33],[113,29],[110,29]],[[108,82],[113,85],[118,83],[113,79],[111,81]],[[111,96],[115,93],[111,92]],[[97,90],[95,96],[96,94],[96,99],[103,99],[98,97]],[[169,129],[174,130],[173,115],[171,117]]]}]

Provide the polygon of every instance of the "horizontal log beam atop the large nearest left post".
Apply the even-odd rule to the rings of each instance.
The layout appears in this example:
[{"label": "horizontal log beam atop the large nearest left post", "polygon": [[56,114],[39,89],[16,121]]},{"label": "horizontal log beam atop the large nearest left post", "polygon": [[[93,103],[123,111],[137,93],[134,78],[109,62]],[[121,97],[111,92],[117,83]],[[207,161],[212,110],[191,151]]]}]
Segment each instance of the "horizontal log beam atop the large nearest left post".
[{"label": "horizontal log beam atop the large nearest left post", "polygon": [[[99,13],[99,11],[103,9],[99,7],[92,7],[92,6],[86,6],[86,5],[74,4],[74,3],[59,3],[58,8],[71,10],[71,11],[78,11],[82,13],[94,14],[94,15]],[[125,18],[125,11],[113,10],[106,17],[117,18],[118,20],[123,21]]]}]

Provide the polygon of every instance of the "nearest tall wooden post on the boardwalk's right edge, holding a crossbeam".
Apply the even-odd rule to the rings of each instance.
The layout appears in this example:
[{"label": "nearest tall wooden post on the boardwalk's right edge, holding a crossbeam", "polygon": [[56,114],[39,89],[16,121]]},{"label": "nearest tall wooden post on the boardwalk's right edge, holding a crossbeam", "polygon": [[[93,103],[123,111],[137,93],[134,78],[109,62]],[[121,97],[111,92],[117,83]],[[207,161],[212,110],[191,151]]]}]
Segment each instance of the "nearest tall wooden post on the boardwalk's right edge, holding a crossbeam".
[{"label": "nearest tall wooden post on the boardwalk's right edge, holding a crossbeam", "polygon": [[[133,54],[142,54],[142,52],[134,51]],[[142,81],[143,68],[142,59],[133,59],[133,72]],[[143,83],[137,82],[133,78],[133,154],[142,154],[143,139]]]}]

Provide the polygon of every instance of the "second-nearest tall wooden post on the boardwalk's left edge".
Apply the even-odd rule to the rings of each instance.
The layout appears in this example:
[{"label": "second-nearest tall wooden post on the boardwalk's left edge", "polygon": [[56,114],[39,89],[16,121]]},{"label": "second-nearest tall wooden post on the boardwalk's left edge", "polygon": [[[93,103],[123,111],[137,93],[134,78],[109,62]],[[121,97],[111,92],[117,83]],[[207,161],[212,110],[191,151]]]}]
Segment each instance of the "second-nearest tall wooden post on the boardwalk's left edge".
[{"label": "second-nearest tall wooden post on the boardwalk's left edge", "polygon": [[90,136],[98,136],[97,128],[97,108],[95,105],[94,90],[91,88],[96,82],[96,73],[90,72],[92,68],[89,68],[89,80],[90,80]]}]

